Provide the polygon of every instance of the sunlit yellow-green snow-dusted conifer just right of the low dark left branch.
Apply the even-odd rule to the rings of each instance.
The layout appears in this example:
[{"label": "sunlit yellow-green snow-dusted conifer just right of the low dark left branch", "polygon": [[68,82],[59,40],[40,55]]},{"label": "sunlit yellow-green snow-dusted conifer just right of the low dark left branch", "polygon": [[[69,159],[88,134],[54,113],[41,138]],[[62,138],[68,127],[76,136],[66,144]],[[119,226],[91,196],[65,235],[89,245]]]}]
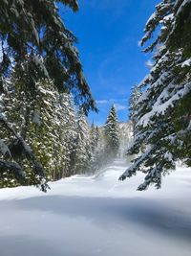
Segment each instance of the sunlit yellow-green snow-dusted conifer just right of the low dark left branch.
[{"label": "sunlit yellow-green snow-dusted conifer just right of the low dark left branch", "polygon": [[[33,97],[28,116],[25,139],[29,142],[36,157],[45,168],[48,179],[59,166],[59,152],[64,147],[59,138],[58,130],[60,124],[57,121],[58,90],[53,81],[42,80],[35,84],[35,97]],[[29,107],[29,105],[28,105]],[[23,117],[25,120],[26,117]],[[16,123],[16,121],[15,121]],[[30,169],[28,171],[30,173]],[[31,174],[32,175],[32,174]],[[29,177],[29,184],[32,184]]]}]

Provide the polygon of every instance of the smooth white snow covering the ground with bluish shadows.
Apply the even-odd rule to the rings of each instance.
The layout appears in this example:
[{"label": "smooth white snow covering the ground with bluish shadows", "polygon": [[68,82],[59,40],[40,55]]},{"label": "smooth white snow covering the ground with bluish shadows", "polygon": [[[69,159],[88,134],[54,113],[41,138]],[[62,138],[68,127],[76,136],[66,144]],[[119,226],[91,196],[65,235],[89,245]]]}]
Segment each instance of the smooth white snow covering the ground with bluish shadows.
[{"label": "smooth white snow covering the ground with bluish shadows", "polygon": [[0,256],[191,256],[191,170],[137,192],[143,175],[117,181],[125,167],[117,160],[47,194],[0,190]]}]

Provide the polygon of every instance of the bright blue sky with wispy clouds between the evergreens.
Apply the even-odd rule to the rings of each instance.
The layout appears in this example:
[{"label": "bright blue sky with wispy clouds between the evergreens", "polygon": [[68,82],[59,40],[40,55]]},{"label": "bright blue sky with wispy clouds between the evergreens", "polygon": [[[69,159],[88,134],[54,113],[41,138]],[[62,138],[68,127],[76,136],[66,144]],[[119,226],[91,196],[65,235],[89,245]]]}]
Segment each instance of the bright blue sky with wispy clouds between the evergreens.
[{"label": "bright blue sky with wispy clouds between the evergreens", "polygon": [[62,8],[66,26],[78,38],[84,73],[96,99],[98,114],[90,122],[105,123],[111,105],[119,121],[128,119],[131,87],[148,72],[138,41],[159,0],[79,0],[79,12]]}]

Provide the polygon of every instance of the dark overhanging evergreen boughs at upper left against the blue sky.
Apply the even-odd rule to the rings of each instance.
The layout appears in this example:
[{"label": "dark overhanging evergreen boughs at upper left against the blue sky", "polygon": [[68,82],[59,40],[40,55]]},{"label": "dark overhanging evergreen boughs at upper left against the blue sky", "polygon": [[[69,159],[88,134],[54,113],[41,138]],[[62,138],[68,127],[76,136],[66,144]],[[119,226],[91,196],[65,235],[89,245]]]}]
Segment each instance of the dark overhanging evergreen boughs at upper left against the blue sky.
[{"label": "dark overhanging evergreen boughs at upper left against the blue sky", "polygon": [[87,111],[95,108],[95,102],[82,74],[76,38],[60,17],[58,2],[78,10],[76,0],[1,1],[1,78],[16,62],[21,75],[28,76],[29,87],[43,77],[50,78],[59,91],[73,91],[76,102]]}]

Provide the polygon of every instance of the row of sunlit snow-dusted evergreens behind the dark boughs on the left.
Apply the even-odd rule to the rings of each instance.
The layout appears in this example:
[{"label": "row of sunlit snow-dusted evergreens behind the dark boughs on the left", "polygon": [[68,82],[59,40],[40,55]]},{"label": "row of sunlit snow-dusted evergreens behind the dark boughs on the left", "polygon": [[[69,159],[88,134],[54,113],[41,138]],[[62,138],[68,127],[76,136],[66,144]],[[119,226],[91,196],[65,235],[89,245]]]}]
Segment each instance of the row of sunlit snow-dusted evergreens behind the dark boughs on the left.
[{"label": "row of sunlit snow-dusted evergreens behind the dark boughs on the left", "polygon": [[[119,138],[114,105],[103,129],[94,124],[90,127],[83,108],[74,104],[72,94],[59,92],[50,79],[36,81],[31,91],[16,71],[4,81],[0,105],[1,114],[14,132],[22,136],[27,149],[30,145],[28,150],[42,165],[46,182],[70,175],[93,175],[117,156]],[[15,173],[2,172],[0,187],[38,185],[41,177],[33,172],[32,162],[11,131],[2,128],[0,137],[1,158],[13,158],[25,174],[20,181]]]}]

